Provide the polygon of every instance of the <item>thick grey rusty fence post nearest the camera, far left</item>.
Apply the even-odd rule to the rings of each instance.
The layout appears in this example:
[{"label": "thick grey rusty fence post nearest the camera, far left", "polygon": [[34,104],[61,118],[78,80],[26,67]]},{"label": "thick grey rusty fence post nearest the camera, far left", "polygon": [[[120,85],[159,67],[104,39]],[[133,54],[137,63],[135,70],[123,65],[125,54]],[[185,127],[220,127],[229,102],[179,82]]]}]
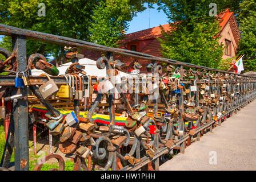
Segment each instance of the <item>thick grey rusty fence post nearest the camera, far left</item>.
[{"label": "thick grey rusty fence post nearest the camera, far left", "polygon": [[[18,71],[27,65],[26,38],[13,36],[13,52],[17,56]],[[13,95],[23,94],[23,99],[13,102],[15,171],[29,170],[29,118],[27,109],[27,88],[14,88]]]}]

